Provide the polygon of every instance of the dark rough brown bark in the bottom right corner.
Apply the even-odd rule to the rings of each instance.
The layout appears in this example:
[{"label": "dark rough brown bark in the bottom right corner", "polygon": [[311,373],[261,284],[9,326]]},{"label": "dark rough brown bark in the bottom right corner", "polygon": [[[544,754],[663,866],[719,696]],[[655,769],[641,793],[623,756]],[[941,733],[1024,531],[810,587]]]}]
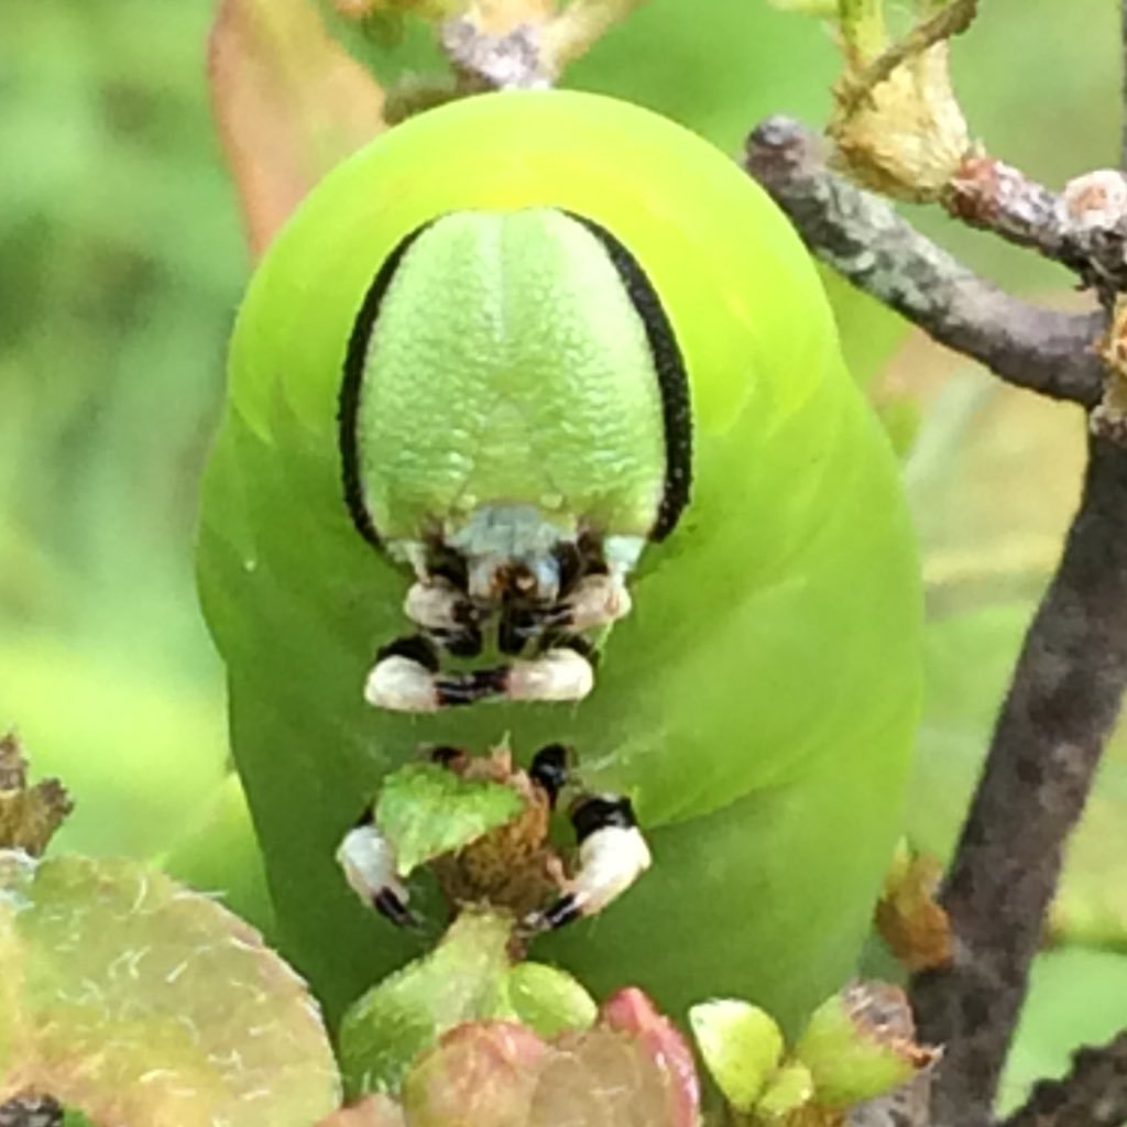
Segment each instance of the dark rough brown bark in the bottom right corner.
[{"label": "dark rough brown bark in the bottom right corner", "polygon": [[1002,1127],[1119,1127],[1127,1121],[1127,1030],[1081,1049],[1063,1080],[1042,1080]]}]

